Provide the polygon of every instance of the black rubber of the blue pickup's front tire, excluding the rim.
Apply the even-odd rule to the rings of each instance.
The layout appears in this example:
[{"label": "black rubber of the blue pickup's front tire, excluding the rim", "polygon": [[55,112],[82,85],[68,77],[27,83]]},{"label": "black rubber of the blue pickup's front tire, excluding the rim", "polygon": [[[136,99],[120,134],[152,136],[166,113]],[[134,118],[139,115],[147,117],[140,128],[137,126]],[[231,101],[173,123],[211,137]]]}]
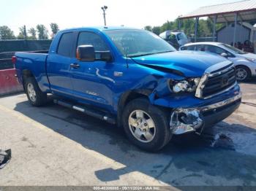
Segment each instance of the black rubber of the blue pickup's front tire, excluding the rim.
[{"label": "black rubber of the blue pickup's front tire, excluding the rim", "polygon": [[[129,127],[129,116],[132,112],[135,112],[135,110],[138,109],[146,112],[154,121],[156,133],[154,134],[154,139],[147,143],[136,139]],[[130,101],[124,108],[122,120],[124,131],[129,140],[140,149],[149,152],[156,152],[159,149],[162,149],[162,147],[165,147],[172,137],[167,113],[162,111],[162,109],[159,109],[157,106],[152,106],[146,98],[138,98]]]}]

